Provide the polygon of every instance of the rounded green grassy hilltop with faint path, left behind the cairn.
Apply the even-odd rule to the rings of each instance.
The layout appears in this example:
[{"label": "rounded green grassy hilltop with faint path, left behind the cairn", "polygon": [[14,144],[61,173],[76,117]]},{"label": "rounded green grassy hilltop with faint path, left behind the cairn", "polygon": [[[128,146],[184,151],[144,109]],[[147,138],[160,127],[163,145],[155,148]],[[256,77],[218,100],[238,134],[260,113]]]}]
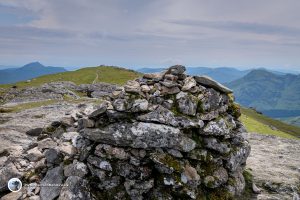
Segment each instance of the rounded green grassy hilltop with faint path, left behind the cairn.
[{"label": "rounded green grassy hilltop with faint path, left behind the cairn", "polygon": [[[98,74],[98,78],[97,78]],[[76,71],[62,72],[57,74],[40,76],[33,78],[31,82],[21,81],[14,84],[3,84],[0,88],[9,88],[13,85],[18,88],[39,86],[44,83],[55,82],[55,81],[72,81],[79,84],[91,84],[94,81],[113,83],[122,85],[128,80],[133,80],[141,76],[140,73],[133,70],[128,70],[120,67],[112,66],[99,66],[99,67],[87,67]]]}]

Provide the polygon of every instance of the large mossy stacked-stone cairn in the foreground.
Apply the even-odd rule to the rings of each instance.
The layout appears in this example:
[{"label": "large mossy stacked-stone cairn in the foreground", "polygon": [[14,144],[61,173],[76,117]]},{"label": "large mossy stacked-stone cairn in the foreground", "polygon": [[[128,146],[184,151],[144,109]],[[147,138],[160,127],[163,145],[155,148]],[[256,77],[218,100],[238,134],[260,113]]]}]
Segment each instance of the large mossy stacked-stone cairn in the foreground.
[{"label": "large mossy stacked-stone cairn in the foreground", "polygon": [[176,65],[128,81],[78,121],[98,199],[240,195],[250,146],[232,91]]}]

